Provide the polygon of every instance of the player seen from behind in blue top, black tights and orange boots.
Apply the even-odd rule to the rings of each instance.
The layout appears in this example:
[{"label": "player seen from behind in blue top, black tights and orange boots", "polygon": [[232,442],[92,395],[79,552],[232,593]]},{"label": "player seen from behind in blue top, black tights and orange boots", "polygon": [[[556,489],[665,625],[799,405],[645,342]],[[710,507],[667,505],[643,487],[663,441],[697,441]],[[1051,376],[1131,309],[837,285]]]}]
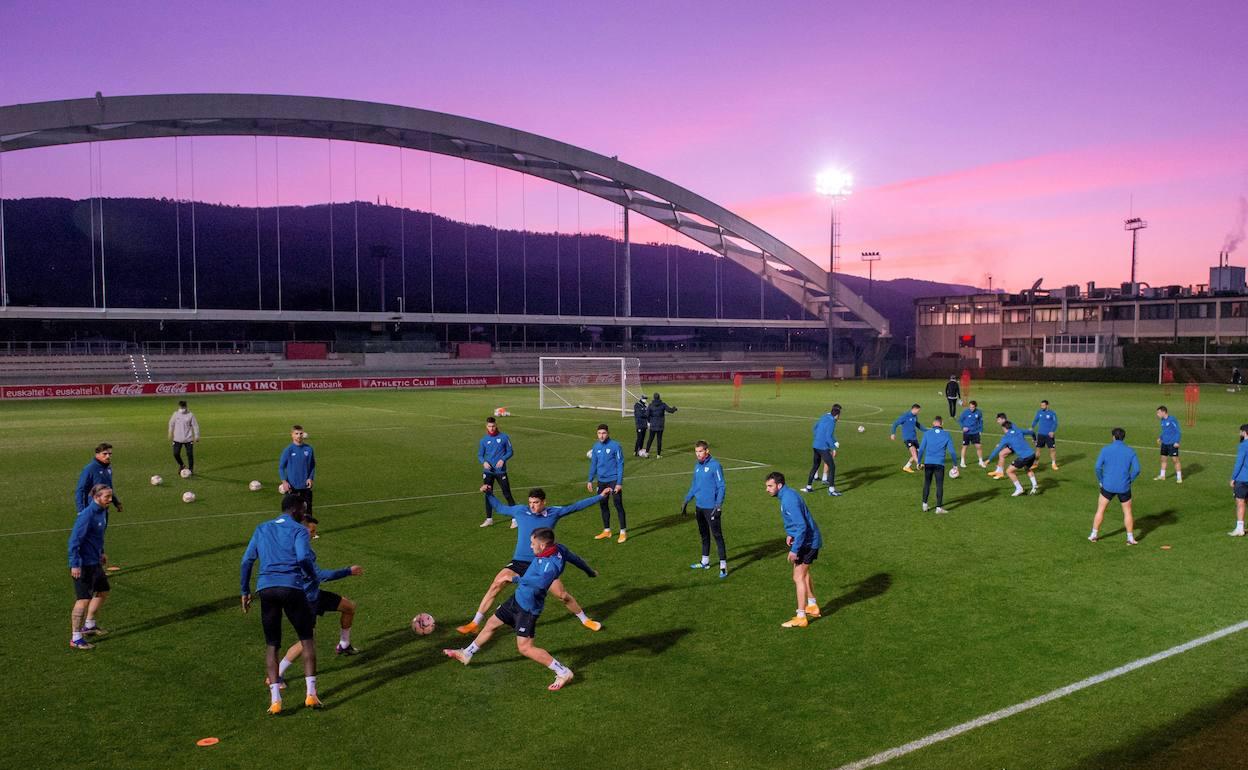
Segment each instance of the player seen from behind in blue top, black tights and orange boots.
[{"label": "player seen from behind in blue top, black tights and orange boots", "polygon": [[303,645],[303,679],[307,696],[303,705],[319,709],[316,694],[316,615],[308,605],[308,590],[316,593],[321,578],[308,530],[303,527],[307,503],[297,494],[282,498],[282,515],[261,523],[247,543],[238,568],[242,612],[251,609],[251,572],[260,559],[256,593],[260,595],[260,621],[265,629],[265,674],[270,681],[270,714],[282,710],[282,685],[277,675],[277,648],[282,644],[282,615],[295,626]]}]

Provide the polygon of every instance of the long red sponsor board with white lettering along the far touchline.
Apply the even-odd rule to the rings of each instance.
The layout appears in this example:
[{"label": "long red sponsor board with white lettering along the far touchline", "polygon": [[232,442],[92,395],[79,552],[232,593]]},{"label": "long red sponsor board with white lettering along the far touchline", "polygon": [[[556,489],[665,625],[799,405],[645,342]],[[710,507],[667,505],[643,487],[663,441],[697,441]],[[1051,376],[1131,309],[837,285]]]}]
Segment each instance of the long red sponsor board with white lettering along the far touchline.
[{"label": "long red sponsor board with white lettering along the far touchline", "polygon": [[[643,382],[714,382],[769,379],[774,369],[743,372],[653,372],[643,373]],[[810,371],[786,371],[790,379],[810,379]],[[548,378],[549,379],[549,378]],[[564,384],[615,384],[619,377],[574,376]],[[213,379],[206,382],[134,382],[49,386],[0,386],[0,399],[31,398],[99,398],[135,396],[186,396],[192,393],[276,393],[282,391],[354,391],[354,389],[417,389],[417,388],[497,388],[538,384],[537,374],[480,374],[464,377],[339,377],[319,379]],[[554,382],[558,382],[557,379]]]}]

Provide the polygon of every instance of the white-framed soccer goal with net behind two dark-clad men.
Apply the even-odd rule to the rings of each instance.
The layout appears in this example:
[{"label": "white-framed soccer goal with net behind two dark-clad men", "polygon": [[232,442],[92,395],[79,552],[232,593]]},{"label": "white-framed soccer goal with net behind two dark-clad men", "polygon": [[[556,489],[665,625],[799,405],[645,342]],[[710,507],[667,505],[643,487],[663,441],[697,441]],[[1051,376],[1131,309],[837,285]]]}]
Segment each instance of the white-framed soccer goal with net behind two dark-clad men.
[{"label": "white-framed soccer goal with net behind two dark-clad men", "polygon": [[636,358],[542,357],[538,359],[542,409],[605,409],[633,413],[641,394]]}]

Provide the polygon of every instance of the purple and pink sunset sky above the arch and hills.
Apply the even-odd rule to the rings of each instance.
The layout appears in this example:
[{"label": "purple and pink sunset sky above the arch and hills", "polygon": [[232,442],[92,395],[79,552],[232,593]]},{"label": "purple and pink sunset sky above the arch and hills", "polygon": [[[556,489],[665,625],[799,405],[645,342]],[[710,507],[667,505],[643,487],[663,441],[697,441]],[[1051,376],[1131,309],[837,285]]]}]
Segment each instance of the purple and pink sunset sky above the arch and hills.
[{"label": "purple and pink sunset sky above the arch and hills", "polygon": [[[880,251],[880,277],[1121,282],[1133,198],[1149,223],[1141,278],[1203,283],[1248,195],[1242,0],[37,9],[0,0],[0,104],[235,91],[467,115],[619,155],[825,265],[814,173],[836,165],[856,177],[841,206],[842,267],[865,273],[859,252]],[[172,195],[172,142],[161,142],[102,147],[105,195]],[[250,203],[260,181],[272,202],[273,140],[258,146],[258,180],[255,149],[196,140],[197,197]],[[283,140],[281,152],[282,202],[324,200],[331,166],[334,200],[356,183],[361,198],[401,196],[393,149],[336,144],[329,161],[324,142]],[[5,195],[87,195],[86,154],[6,155]],[[494,171],[458,163],[433,160],[434,208],[463,216],[467,198],[470,218],[493,221]],[[407,205],[429,205],[428,166],[404,154]],[[519,195],[518,178],[502,176],[499,200]],[[574,231],[577,197],[528,181],[529,226],[558,217]],[[504,226],[519,225],[515,208],[500,206]],[[584,230],[610,230],[610,207],[582,208]]]}]

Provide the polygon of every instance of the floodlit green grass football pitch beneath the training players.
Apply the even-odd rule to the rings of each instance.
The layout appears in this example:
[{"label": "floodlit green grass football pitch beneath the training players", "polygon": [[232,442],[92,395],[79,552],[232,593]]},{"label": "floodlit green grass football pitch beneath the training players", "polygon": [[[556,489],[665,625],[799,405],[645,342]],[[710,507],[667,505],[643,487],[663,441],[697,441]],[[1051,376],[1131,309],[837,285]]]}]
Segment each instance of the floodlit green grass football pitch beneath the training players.
[{"label": "floodlit green grass football pitch beneath the training players", "polygon": [[[508,407],[500,422],[515,446],[518,502],[540,485],[562,504],[588,494],[595,426],[608,422],[631,451],[631,417],[539,412],[528,388],[201,396],[190,402],[203,433],[196,475],[181,479],[165,441],[175,401],[2,403],[5,764],[832,770],[911,744],[882,766],[1241,766],[1248,633],[1055,691],[1248,620],[1248,540],[1226,534],[1248,394],[1203,389],[1197,424],[1184,424],[1178,485],[1173,469],[1164,483],[1151,479],[1154,409],[1168,403],[1182,419],[1182,388],[1167,397],[1158,386],[976,383],[985,454],[1000,438],[993,414],[1026,426],[1047,398],[1061,419],[1061,469],[1041,451],[1041,494],[1011,498],[1008,480],[968,463],[946,479],[948,514],[937,517],[920,512],[922,475],[901,473],[905,448],[887,433],[912,402],[924,404],[924,424],[947,418],[941,387],[790,382],[776,397],[755,383],[739,408],[728,383],[659,387],[679,412],[668,417],[661,459],[626,463],[628,543],[593,539],[597,505],[557,530],[600,573],[569,568],[564,582],[604,625],[589,631],[547,602],[535,641],[577,674],[559,693],[547,691],[550,671],[522,658],[507,629],[467,668],[442,654],[467,641],[454,626],[472,618],[515,545],[507,519],[478,528],[477,442],[484,418]],[[822,616],[782,629],[794,589],[764,477],[781,470],[791,487],[805,483],[811,424],[832,402],[844,406],[844,497],[817,483],[806,495],[824,534],[811,568]],[[296,663],[275,718],[265,713],[258,612],[238,607],[238,562],[256,524],[278,510],[277,457],[292,423],[317,454],[319,564],[364,568],[327,585],[359,605],[361,654],[334,656],[337,615],[322,618],[326,708],[301,705]],[[1103,539],[1086,539],[1093,463],[1116,426],[1143,467],[1136,547],[1124,544],[1117,503]],[[680,504],[698,439],[726,470],[723,580],[689,569],[699,538]],[[101,441],[115,446],[125,503],[106,540],[121,569],[100,614],[111,634],[75,651],[71,497]],[[157,473],[165,483],[152,487]],[[252,479],[265,489],[248,492]],[[183,504],[188,489],[198,499]],[[428,636],[408,625],[421,612],[438,621]],[[292,638],[285,625],[283,645]],[[196,746],[208,736],[220,743]]]}]

